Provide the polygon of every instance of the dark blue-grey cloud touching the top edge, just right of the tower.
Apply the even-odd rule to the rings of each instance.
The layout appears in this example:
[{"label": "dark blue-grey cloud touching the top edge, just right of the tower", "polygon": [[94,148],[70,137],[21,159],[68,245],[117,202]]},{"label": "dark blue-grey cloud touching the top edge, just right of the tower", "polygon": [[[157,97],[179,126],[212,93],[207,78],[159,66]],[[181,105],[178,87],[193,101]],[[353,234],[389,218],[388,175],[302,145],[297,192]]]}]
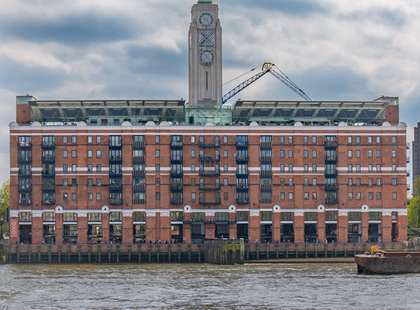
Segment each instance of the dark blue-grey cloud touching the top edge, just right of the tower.
[{"label": "dark blue-grey cloud touching the top edge, just right of the tower", "polygon": [[308,16],[327,11],[319,2],[312,0],[229,0],[224,2],[223,5],[235,9],[239,7],[264,9],[296,16]]}]

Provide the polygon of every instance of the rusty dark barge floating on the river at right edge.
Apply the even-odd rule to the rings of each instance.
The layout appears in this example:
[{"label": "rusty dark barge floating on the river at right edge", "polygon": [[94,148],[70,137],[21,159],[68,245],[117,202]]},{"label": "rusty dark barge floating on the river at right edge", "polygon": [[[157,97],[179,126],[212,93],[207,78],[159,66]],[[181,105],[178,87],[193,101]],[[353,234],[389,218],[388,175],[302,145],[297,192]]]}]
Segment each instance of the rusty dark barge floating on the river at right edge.
[{"label": "rusty dark barge floating on the river at right edge", "polygon": [[354,258],[360,274],[420,273],[420,252],[361,254]]}]

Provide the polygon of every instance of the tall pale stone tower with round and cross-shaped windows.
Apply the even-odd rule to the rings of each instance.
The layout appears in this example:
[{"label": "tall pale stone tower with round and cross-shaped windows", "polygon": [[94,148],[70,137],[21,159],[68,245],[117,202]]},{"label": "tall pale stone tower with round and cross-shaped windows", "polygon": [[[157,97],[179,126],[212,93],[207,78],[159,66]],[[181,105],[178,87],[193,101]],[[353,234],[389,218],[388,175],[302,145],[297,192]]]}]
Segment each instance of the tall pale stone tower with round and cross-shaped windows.
[{"label": "tall pale stone tower with round and cross-shaped windows", "polygon": [[222,100],[222,28],[219,8],[199,0],[189,30],[189,106],[211,109]]}]

